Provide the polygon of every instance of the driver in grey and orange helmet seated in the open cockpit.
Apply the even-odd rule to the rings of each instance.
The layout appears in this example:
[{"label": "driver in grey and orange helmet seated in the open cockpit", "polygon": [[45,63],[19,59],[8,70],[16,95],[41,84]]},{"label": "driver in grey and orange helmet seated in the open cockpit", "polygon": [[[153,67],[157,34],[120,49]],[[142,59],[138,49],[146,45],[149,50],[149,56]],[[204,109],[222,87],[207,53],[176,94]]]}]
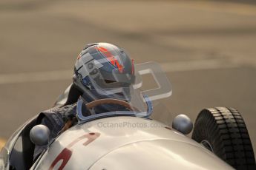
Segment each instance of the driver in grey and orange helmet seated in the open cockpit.
[{"label": "driver in grey and orange helmet seated in the open cockpit", "polygon": [[[103,98],[114,98],[129,102],[130,87],[134,84],[134,63],[119,47],[108,43],[88,44],[79,53],[73,74],[73,86],[84,103]],[[76,98],[76,101],[78,98]],[[124,106],[104,104],[88,110],[84,104],[85,116],[101,112],[126,110]],[[67,129],[66,125],[76,121],[76,102],[48,109],[39,114],[37,123],[50,129],[50,140]],[[70,127],[70,125],[68,126]],[[35,146],[34,160],[47,146]]]}]

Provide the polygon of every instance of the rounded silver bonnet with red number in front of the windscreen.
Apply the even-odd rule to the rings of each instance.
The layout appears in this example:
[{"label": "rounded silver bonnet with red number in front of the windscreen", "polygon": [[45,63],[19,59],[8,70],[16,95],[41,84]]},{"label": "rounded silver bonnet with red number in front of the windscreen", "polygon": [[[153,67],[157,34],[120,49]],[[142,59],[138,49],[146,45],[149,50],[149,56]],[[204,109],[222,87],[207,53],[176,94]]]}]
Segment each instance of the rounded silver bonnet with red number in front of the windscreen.
[{"label": "rounded silver bonnet with red number in front of the windscreen", "polygon": [[163,123],[113,117],[73,126],[31,169],[232,169]]}]

